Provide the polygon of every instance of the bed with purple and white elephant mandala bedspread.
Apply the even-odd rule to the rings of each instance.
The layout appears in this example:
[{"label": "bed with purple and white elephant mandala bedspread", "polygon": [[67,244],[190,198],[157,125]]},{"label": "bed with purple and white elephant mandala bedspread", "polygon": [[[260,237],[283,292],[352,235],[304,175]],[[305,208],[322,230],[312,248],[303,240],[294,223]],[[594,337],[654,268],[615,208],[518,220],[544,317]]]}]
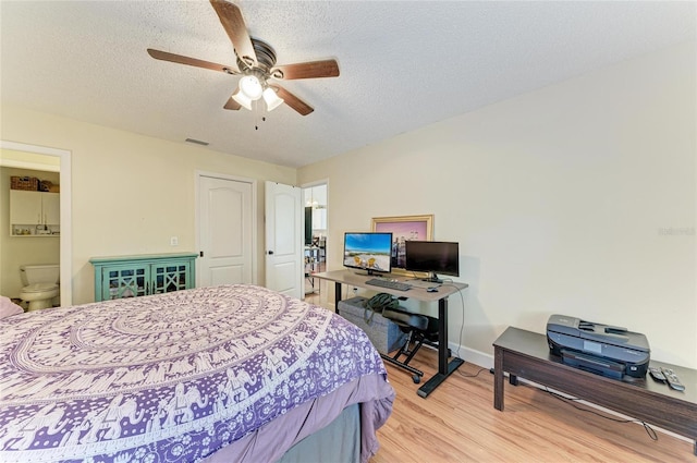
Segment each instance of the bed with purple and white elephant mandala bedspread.
[{"label": "bed with purple and white elephant mandala bedspread", "polygon": [[367,462],[394,400],[360,329],[256,285],[19,314],[0,332],[2,462]]}]

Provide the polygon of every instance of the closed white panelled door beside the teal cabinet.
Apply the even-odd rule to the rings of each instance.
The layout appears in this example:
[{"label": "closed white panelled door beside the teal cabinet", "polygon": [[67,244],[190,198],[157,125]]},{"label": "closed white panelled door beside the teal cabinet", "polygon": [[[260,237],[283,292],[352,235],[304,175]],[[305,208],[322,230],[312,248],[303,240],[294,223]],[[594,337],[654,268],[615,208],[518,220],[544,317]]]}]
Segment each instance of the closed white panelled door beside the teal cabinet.
[{"label": "closed white panelled door beside the teal cabinet", "polygon": [[198,287],[254,283],[254,181],[198,178]]}]

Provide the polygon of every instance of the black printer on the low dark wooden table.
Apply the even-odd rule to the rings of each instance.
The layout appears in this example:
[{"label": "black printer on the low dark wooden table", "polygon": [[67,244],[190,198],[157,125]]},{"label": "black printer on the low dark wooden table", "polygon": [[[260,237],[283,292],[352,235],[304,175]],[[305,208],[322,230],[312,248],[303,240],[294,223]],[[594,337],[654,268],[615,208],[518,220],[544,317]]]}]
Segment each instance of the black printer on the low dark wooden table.
[{"label": "black printer on the low dark wooden table", "polygon": [[626,328],[552,315],[547,321],[549,349],[562,361],[610,378],[643,378],[650,352],[646,336]]}]

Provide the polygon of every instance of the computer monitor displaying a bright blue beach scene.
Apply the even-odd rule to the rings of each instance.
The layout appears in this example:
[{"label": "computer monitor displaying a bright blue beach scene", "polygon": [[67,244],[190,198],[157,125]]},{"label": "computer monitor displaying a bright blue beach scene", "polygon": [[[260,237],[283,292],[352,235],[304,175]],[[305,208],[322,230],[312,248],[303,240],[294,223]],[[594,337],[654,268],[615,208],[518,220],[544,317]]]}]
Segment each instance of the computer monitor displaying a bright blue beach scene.
[{"label": "computer monitor displaying a bright blue beach scene", "polygon": [[344,233],[344,267],[389,273],[392,269],[392,233],[346,232]]}]

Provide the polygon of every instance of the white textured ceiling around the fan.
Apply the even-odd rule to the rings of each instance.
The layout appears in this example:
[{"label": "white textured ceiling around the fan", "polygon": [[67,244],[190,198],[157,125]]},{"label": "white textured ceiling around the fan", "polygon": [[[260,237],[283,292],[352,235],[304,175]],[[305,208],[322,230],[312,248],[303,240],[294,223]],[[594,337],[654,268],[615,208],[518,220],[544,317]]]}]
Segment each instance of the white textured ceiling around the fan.
[{"label": "white textured ceiling around the fan", "polygon": [[[341,75],[283,86],[315,112],[222,107],[233,48],[208,1],[1,1],[2,102],[299,167],[695,39],[696,2],[240,1],[278,63]],[[255,125],[259,129],[255,130]]]}]

